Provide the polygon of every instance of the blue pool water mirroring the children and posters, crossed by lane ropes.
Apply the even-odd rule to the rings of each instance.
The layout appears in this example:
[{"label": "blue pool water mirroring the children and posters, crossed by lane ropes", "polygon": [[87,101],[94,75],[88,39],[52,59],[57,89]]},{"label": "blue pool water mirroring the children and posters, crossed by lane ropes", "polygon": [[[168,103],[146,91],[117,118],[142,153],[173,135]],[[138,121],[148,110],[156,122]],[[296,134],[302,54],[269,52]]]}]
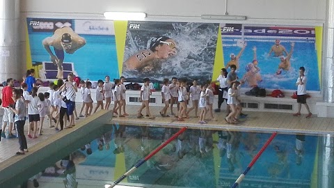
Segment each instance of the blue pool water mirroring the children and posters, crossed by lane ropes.
[{"label": "blue pool water mirroring the children and posters, crossed by lane ropes", "polygon": [[[32,177],[31,185],[36,180],[40,187],[51,182],[58,182],[58,187],[75,187],[79,182],[80,187],[82,181],[89,185],[88,180],[110,184],[179,130],[113,125],[111,132],[45,169],[42,176]],[[129,175],[127,182],[145,187],[231,187],[269,137],[257,132],[189,129]],[[279,134],[241,186],[310,187],[316,141],[315,136]]]}]

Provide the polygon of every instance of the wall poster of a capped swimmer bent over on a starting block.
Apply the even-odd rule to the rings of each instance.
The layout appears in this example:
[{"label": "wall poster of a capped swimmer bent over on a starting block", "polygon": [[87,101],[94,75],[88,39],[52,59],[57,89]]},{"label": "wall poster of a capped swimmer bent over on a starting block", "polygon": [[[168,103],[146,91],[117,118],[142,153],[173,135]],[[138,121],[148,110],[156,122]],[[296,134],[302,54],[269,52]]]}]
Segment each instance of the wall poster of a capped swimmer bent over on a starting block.
[{"label": "wall poster of a capped swimmer bent over on a starting block", "polygon": [[70,72],[97,81],[120,77],[113,21],[27,18],[27,68],[40,79]]}]

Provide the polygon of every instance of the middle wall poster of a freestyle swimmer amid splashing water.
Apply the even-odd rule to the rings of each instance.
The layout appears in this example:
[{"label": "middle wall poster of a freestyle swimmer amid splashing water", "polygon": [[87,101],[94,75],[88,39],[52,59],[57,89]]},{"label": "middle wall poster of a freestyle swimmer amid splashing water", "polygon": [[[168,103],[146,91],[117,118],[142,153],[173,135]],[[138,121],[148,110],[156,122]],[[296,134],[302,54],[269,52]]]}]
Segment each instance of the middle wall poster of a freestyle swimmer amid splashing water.
[{"label": "middle wall poster of a freestyle swimmer amid splashing water", "polygon": [[128,22],[122,76],[212,79],[217,36],[218,24]]}]

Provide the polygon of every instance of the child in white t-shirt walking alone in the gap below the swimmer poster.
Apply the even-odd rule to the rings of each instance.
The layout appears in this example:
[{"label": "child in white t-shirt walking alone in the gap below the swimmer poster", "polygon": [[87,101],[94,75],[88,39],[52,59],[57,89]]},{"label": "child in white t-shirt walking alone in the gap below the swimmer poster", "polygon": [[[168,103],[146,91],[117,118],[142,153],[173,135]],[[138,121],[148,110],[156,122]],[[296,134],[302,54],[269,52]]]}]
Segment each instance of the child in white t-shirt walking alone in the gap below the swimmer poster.
[{"label": "child in white t-shirt walking alone in the gap below the swimmer poster", "polygon": [[141,108],[138,110],[138,115],[137,118],[143,118],[143,114],[141,114],[141,111],[143,111],[144,108],[146,108],[146,114],[150,117],[149,119],[154,119],[154,116],[151,116],[150,113],[150,106],[149,106],[149,100],[150,100],[150,79],[145,78],[144,80],[144,85],[141,86],[141,94],[140,94],[140,101],[141,103]]}]

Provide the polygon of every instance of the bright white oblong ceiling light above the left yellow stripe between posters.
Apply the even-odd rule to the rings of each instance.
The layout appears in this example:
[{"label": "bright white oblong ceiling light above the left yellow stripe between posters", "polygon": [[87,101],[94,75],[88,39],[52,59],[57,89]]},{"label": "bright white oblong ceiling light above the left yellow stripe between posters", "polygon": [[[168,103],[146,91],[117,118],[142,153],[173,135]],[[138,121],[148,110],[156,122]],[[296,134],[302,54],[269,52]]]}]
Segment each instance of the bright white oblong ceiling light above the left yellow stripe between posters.
[{"label": "bright white oblong ceiling light above the left yellow stripe between posters", "polygon": [[103,15],[113,20],[141,20],[146,17],[146,13],[105,12]]}]

